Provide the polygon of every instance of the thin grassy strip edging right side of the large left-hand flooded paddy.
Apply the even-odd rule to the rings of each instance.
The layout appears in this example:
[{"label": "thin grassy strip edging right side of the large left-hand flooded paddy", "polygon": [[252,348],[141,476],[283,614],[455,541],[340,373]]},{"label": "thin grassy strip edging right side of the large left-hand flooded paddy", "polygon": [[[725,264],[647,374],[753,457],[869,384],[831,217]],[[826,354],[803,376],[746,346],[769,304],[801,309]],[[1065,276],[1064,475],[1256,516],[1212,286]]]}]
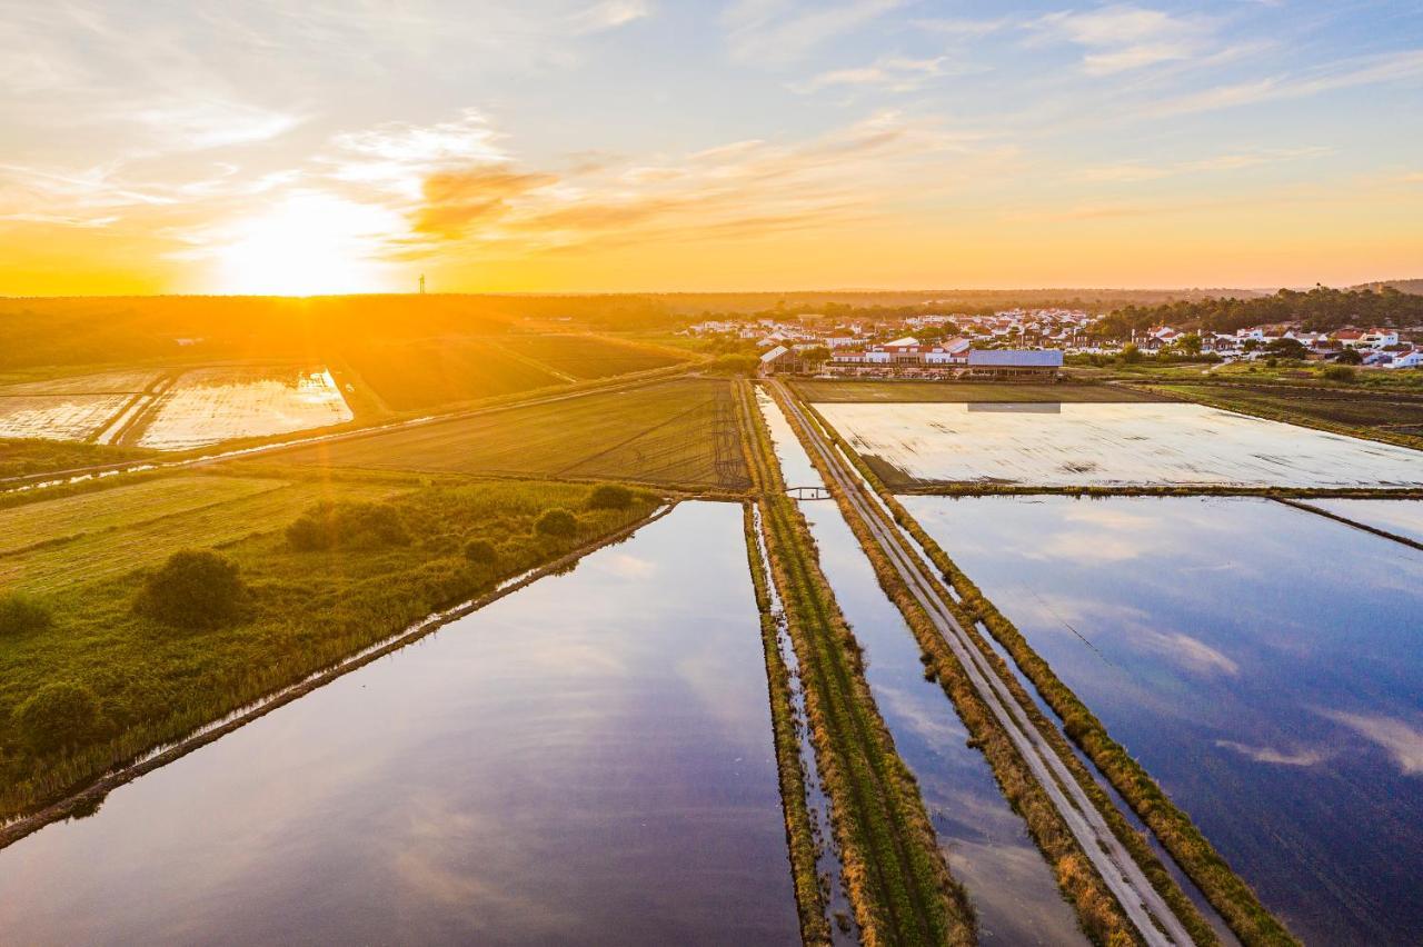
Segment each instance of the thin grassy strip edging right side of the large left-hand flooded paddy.
[{"label": "thin grassy strip edging right side of the large left-hand flooded paddy", "polygon": [[771,590],[766,582],[768,563],[761,559],[753,506],[746,510],[746,556],[756,589],[756,607],[761,613],[761,648],[766,653],[766,680],[771,700],[771,731],[776,738],[776,771],[781,785],[785,813],[785,845],[791,857],[791,882],[795,886],[795,910],[800,916],[801,943],[807,947],[831,943],[825,917],[825,892],[815,872],[815,828],[805,802],[805,768],[800,758],[795,712],[791,705],[791,675],[781,660],[776,617],[771,614]]}]

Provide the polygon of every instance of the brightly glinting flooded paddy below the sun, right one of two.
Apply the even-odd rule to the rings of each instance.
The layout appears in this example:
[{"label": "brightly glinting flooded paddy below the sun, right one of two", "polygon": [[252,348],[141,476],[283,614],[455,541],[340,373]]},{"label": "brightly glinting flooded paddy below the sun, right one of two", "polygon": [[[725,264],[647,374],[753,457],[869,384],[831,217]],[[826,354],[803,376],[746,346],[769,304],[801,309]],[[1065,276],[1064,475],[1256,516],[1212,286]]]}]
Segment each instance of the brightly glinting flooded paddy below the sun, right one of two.
[{"label": "brightly glinting flooded paddy below the sun, right one of two", "polygon": [[184,451],[342,424],[353,417],[324,368],[196,368],[158,398],[138,445]]}]

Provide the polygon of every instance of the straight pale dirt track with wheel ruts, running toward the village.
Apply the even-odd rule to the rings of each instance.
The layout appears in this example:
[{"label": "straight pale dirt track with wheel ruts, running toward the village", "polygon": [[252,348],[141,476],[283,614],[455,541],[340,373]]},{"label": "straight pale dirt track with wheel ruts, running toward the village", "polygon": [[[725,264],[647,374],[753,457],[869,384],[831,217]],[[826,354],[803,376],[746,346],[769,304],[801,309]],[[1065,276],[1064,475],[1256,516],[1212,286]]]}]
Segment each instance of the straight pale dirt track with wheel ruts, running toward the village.
[{"label": "straight pale dirt track with wheel ruts, running toward the village", "polygon": [[818,427],[800,408],[795,397],[778,381],[773,380],[767,384],[773,385],[781,395],[783,404],[788,405],[801,429],[807,434],[810,449],[821,458],[835,485],[848,498],[855,515],[874,536],[877,546],[889,559],[914,599],[943,636],[968,673],[979,698],[1009,734],[1013,745],[1052,799],[1081,850],[1121,904],[1138,936],[1154,946],[1192,943],[1181,920],[1167,907],[1141,866],[1111,832],[1104,816],[1093,805],[1064,761],[1029,719],[1027,710],[1017,702],[1005,681],[989,665],[979,646],[969,637],[972,633],[955,620],[943,601],[945,592],[935,579],[933,567],[924,562],[898,528],[887,525],[872,509],[874,501],[868,498],[859,475],[825,441]]}]

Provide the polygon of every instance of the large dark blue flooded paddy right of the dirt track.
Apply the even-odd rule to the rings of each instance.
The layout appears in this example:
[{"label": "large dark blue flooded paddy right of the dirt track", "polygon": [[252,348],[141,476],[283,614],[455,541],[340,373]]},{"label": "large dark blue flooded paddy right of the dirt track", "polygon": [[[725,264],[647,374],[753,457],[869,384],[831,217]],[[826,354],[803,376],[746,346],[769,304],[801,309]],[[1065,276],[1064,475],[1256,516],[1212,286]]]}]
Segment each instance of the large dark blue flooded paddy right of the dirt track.
[{"label": "large dark blue flooded paddy right of the dirt track", "polygon": [[1423,553],[1261,499],[905,505],[1306,943],[1423,941]]}]

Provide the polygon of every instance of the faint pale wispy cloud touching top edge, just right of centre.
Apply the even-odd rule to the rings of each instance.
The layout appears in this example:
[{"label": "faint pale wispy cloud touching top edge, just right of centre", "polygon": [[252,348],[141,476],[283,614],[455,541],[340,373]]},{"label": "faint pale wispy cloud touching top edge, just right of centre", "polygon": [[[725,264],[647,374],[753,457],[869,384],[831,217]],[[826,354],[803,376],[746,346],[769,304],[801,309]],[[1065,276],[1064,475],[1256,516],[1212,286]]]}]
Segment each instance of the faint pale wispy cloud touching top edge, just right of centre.
[{"label": "faint pale wispy cloud touching top edge, just right of centre", "polygon": [[736,0],[721,14],[731,55],[747,63],[785,64],[901,6],[901,0],[820,4],[794,0]]}]

